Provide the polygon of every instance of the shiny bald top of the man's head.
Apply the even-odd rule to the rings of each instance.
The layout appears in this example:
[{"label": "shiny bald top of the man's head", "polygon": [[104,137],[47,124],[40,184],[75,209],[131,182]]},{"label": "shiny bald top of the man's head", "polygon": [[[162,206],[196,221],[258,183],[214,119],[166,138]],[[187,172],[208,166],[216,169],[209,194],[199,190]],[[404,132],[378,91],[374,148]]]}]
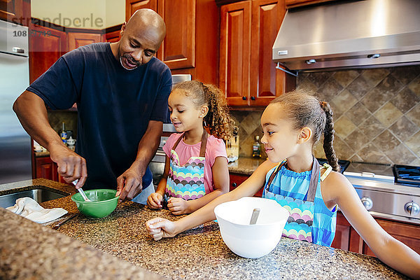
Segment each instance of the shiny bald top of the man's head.
[{"label": "shiny bald top of the man's head", "polygon": [[143,8],[137,10],[127,22],[125,32],[137,34],[138,31],[148,29],[148,33],[153,33],[159,38],[159,45],[166,35],[166,25],[162,17],[154,10]]}]

